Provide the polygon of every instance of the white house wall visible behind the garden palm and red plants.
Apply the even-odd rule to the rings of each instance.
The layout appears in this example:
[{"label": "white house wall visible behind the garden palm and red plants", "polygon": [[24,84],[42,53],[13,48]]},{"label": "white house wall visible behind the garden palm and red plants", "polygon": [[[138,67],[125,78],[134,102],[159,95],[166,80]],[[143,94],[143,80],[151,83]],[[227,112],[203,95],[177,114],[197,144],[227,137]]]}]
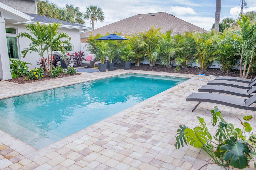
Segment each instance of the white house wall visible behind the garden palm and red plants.
[{"label": "white house wall visible behind the garden palm and red plants", "polygon": [[[26,26],[21,24],[6,24],[6,28],[17,28],[17,32],[27,32]],[[69,51],[70,53],[73,53],[75,51],[80,51],[80,34],[79,30],[75,29],[59,29],[61,32],[67,32],[71,36],[71,45],[73,50]],[[25,48],[29,47],[29,44],[31,41],[26,37],[20,37],[18,38],[18,50],[19,52],[24,50]],[[45,58],[47,58],[47,54],[45,54]],[[29,69],[34,69],[35,67],[39,67],[36,62],[40,61],[40,57],[37,52],[32,51],[31,53],[27,53],[27,55],[23,58],[19,53],[19,60],[31,63],[32,65],[28,65]]]}]

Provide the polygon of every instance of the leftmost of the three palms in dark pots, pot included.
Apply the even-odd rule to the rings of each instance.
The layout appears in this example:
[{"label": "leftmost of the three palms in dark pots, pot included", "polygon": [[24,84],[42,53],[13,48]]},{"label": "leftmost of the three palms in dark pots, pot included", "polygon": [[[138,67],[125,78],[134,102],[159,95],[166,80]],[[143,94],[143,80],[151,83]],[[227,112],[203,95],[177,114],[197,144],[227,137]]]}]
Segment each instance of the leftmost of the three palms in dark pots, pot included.
[{"label": "leftmost of the three palms in dark pots, pot included", "polygon": [[100,72],[106,72],[107,64],[105,63],[105,60],[106,60],[106,57],[109,56],[109,54],[111,53],[108,41],[97,42],[96,47],[97,47],[96,57],[101,60],[101,63],[99,63],[99,70]]}]

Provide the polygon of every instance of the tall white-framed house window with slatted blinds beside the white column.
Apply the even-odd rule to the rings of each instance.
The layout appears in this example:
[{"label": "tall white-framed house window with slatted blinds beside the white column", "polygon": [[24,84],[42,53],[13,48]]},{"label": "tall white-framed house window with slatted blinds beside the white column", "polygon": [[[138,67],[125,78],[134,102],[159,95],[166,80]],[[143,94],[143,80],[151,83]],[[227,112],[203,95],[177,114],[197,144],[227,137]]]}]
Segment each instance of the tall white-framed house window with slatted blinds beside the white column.
[{"label": "tall white-framed house window with slatted blinds beside the white column", "polygon": [[9,58],[18,59],[18,44],[16,28],[5,28]]}]

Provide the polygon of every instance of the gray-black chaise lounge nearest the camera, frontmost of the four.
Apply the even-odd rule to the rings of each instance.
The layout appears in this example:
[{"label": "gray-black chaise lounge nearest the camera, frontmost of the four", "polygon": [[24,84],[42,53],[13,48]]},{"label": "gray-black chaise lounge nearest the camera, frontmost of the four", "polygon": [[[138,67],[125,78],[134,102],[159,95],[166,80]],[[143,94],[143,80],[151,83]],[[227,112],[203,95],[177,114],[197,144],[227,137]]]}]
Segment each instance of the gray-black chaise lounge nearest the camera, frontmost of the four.
[{"label": "gray-black chaise lounge nearest the camera, frontmost of the four", "polygon": [[215,93],[192,93],[186,98],[186,101],[198,101],[197,105],[194,107],[192,112],[197,108],[201,102],[211,102],[216,104],[222,104],[225,106],[230,106],[238,109],[252,110],[256,111],[256,107],[249,107],[251,104],[256,102],[256,95],[248,99],[241,99],[237,97],[231,97],[222,94]]}]

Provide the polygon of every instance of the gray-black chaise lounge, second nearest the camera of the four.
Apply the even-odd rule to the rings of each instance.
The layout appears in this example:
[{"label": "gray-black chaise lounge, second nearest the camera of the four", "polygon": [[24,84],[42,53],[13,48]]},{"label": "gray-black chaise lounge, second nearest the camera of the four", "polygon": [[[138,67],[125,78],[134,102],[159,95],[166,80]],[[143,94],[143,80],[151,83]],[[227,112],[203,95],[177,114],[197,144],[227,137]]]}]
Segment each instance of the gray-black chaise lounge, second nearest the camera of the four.
[{"label": "gray-black chaise lounge, second nearest the camera of the four", "polygon": [[202,86],[198,89],[199,92],[218,92],[218,93],[226,93],[236,96],[242,96],[242,97],[252,97],[252,93],[255,93],[256,86],[251,88],[250,90],[242,89],[242,88],[236,88],[236,87],[229,87],[229,86],[216,86],[216,85],[207,85]]}]

